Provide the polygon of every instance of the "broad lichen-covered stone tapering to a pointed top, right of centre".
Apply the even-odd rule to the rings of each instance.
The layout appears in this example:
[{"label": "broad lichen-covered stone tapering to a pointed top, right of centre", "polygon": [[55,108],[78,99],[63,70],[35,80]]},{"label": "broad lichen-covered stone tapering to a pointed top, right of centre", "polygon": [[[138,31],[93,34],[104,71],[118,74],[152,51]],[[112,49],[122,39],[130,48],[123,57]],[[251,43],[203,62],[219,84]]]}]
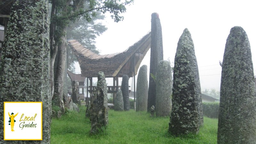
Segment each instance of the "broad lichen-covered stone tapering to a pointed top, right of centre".
[{"label": "broad lichen-covered stone tapering to a pointed top, right of centre", "polygon": [[185,28],[174,59],[169,132],[175,135],[197,134],[202,124],[202,98],[194,43]]}]

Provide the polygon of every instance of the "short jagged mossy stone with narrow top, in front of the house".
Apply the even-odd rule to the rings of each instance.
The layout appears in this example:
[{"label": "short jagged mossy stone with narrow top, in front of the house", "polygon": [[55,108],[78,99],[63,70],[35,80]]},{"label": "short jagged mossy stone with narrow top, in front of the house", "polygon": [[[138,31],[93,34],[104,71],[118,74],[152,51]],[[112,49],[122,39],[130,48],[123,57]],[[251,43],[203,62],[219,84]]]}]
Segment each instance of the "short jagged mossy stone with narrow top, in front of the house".
[{"label": "short jagged mossy stone with narrow top, in front of the house", "polygon": [[97,87],[93,90],[90,109],[91,134],[98,133],[108,124],[108,96],[106,78],[103,72],[98,74]]}]

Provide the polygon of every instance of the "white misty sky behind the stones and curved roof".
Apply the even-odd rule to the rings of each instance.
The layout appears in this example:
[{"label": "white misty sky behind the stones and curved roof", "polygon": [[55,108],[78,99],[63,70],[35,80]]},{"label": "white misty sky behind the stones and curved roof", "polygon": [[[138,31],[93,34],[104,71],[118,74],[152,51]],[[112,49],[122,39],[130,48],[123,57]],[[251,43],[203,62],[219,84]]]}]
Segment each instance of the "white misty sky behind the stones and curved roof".
[{"label": "white misty sky behind the stones and curved roof", "polygon": [[[169,60],[173,67],[177,43],[183,30],[188,28],[195,46],[201,91],[205,93],[205,89],[208,91],[213,89],[219,92],[221,80],[219,61],[223,59],[226,39],[232,27],[244,28],[251,45],[252,62],[256,63],[254,6],[255,2],[250,0],[135,0],[133,5],[126,6],[123,21],[115,23],[110,15],[106,14],[106,18],[101,22],[108,30],[97,37],[96,47],[100,54],[126,50],[151,30],[151,13],[157,12],[162,25],[164,60]],[[140,66],[148,65],[148,78],[149,62],[150,50],[140,64]],[[253,68],[256,69],[255,64]],[[78,63],[76,63],[76,73],[81,73]],[[95,81],[97,78],[93,79],[93,82]],[[120,85],[121,81],[122,78],[119,78]],[[132,78],[129,81],[132,85]],[[108,78],[107,83],[113,85],[112,78]]]}]

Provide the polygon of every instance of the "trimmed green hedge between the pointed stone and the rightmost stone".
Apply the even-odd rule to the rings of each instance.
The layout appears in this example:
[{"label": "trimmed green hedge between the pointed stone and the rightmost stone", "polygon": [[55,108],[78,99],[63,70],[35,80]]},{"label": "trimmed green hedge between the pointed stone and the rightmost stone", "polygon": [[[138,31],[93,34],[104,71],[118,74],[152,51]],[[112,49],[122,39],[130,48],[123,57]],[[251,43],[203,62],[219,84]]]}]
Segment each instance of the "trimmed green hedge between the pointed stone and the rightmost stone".
[{"label": "trimmed green hedge between the pointed stone and the rightmost stone", "polygon": [[203,102],[202,107],[203,107],[204,116],[207,116],[210,118],[219,117],[219,107],[220,107],[219,102],[212,102],[212,103]]}]

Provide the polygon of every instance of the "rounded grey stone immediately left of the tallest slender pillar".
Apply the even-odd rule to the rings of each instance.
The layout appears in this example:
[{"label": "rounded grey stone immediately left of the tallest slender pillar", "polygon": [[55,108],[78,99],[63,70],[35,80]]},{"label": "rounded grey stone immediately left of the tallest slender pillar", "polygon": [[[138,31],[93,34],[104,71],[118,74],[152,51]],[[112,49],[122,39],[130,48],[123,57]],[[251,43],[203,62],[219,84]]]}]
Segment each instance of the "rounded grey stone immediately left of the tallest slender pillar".
[{"label": "rounded grey stone immediately left of the tallest slender pillar", "polygon": [[140,67],[136,87],[136,111],[147,110],[148,107],[148,66]]}]

